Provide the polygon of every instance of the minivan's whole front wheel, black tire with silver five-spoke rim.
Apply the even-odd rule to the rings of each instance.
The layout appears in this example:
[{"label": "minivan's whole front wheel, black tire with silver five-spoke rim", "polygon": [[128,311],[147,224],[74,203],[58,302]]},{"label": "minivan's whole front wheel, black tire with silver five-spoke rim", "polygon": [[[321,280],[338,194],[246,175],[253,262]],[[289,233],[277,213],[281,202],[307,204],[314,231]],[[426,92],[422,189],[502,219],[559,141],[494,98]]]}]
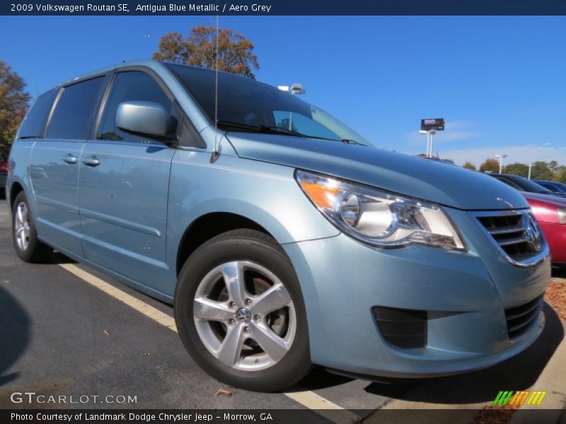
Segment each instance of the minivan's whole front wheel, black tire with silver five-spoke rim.
[{"label": "minivan's whole front wheel, black tire with silver five-spoke rim", "polygon": [[[214,307],[208,306],[210,300],[216,302]],[[180,271],[174,310],[188,353],[221,382],[277,391],[311,370],[299,281],[291,261],[269,235],[232,230],[205,242]]]}]

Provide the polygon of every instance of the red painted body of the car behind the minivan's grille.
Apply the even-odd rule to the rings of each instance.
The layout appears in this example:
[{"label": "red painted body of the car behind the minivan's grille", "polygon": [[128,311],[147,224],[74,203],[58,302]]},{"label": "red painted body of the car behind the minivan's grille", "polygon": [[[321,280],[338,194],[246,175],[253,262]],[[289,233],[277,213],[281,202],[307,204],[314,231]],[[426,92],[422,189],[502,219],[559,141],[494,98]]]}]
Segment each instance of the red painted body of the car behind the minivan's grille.
[{"label": "red painted body of the car behind the minivan's grille", "polygon": [[521,192],[550,246],[553,264],[566,264],[566,197]]}]

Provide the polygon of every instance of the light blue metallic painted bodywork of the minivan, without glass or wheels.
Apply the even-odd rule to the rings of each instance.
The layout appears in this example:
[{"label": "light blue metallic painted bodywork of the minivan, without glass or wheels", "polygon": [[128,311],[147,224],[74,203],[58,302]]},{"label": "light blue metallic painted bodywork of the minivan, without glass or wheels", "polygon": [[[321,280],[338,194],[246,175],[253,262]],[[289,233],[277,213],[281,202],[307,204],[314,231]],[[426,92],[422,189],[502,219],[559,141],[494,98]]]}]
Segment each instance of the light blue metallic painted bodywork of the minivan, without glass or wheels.
[{"label": "light blue metallic painted bodywork of the minivan, without glass or wheels", "polygon": [[[216,133],[163,65],[120,66],[132,65],[158,74],[207,148],[16,140],[6,192],[21,184],[47,244],[171,302],[178,250],[190,225],[210,213],[246,217],[275,237],[299,276],[313,362],[350,372],[402,377],[462,372],[509,358],[540,334],[542,316],[510,341],[504,308],[543,293],[548,260],[526,269],[512,266],[468,213],[527,208],[514,189],[459,167],[372,147]],[[211,163],[215,141],[221,155]],[[67,155],[76,163],[64,160]],[[352,240],[301,192],[296,168],[444,205],[468,251],[379,249]],[[371,314],[374,306],[428,310],[427,346],[388,345]],[[330,312],[335,310],[340,313]]]}]

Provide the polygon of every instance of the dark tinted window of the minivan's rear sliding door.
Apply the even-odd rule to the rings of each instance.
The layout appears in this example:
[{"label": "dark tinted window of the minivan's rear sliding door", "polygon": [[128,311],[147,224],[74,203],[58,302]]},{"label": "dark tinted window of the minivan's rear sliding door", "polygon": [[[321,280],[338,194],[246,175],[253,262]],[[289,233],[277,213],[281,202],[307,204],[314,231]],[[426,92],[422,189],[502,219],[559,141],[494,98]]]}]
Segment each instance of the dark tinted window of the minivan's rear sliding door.
[{"label": "dark tinted window of the minivan's rear sliding door", "polygon": [[103,77],[92,78],[63,89],[51,118],[47,138],[86,139]]}]

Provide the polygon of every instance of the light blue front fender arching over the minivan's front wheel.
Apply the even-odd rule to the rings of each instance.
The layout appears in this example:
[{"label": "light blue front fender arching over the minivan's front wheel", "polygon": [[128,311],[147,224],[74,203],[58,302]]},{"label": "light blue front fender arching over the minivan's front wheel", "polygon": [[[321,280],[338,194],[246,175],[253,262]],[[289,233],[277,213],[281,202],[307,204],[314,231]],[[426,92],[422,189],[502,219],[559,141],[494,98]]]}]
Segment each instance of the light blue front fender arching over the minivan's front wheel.
[{"label": "light blue front fender arching over the minivan's front wheel", "polygon": [[208,213],[253,220],[284,245],[333,237],[339,231],[306,198],[294,168],[221,155],[178,150],[171,166],[168,200],[168,262],[190,223]]}]

